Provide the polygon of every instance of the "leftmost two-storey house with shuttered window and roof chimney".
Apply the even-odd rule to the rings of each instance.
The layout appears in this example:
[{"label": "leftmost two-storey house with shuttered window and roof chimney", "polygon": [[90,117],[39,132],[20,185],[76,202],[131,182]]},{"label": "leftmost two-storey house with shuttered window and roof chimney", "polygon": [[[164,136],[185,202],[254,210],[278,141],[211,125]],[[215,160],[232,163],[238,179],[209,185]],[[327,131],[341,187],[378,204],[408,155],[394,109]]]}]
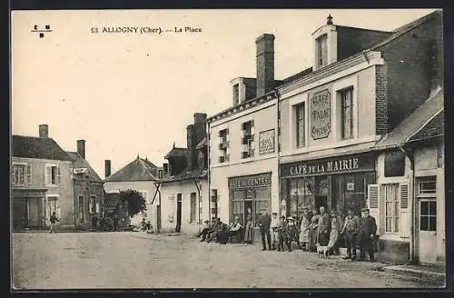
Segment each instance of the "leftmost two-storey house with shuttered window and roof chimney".
[{"label": "leftmost two-storey house with shuttered window and roof chimney", "polygon": [[14,228],[43,228],[55,212],[74,227],[73,161],[39,125],[39,137],[12,136],[11,202]]}]

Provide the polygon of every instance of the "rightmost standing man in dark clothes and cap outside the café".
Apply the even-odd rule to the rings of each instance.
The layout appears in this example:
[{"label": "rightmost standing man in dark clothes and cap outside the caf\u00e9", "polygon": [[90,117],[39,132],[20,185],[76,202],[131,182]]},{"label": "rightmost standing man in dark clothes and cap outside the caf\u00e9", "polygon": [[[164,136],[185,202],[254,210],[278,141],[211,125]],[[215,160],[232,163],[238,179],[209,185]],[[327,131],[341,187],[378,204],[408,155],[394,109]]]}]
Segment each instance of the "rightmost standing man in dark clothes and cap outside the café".
[{"label": "rightmost standing man in dark clothes and cap outside the caf\u00e9", "polygon": [[360,240],[360,260],[365,261],[366,252],[369,253],[370,262],[374,262],[373,244],[377,233],[377,224],[375,218],[370,216],[369,209],[361,209],[360,227],[358,229],[358,236]]}]

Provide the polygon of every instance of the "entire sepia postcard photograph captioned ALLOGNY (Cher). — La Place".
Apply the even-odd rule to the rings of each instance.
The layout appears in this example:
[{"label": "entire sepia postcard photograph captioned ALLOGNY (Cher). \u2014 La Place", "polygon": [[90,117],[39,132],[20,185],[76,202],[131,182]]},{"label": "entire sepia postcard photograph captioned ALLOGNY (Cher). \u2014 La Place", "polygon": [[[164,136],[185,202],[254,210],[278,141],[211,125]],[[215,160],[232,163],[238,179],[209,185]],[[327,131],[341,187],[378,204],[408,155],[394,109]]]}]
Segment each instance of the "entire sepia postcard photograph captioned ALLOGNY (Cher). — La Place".
[{"label": "entire sepia postcard photograph captioned ALLOGNY (Cher). \u2014 La Place", "polygon": [[440,289],[442,9],[12,10],[12,292]]}]

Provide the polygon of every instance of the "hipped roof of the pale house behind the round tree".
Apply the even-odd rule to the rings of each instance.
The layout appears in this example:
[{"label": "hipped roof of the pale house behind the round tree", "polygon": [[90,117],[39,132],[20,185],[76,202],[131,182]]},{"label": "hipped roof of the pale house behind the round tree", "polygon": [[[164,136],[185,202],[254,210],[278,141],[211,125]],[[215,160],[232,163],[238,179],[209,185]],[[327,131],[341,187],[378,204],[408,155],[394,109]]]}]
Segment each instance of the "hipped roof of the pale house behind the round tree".
[{"label": "hipped roof of the pale house behind the round tree", "polygon": [[111,174],[104,182],[123,181],[156,181],[155,171],[157,166],[137,156],[131,163],[126,164],[121,170]]}]

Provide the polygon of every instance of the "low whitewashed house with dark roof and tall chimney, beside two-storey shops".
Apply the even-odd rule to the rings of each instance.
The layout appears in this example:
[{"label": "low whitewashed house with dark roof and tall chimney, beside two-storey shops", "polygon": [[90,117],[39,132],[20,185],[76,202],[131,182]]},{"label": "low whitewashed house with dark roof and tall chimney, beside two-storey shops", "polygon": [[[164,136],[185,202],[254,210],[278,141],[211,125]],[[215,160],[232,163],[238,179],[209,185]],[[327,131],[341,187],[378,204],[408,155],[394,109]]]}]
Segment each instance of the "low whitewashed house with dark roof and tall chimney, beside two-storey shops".
[{"label": "low whitewashed house with dark roof and tall chimney, beside two-storey shops", "polygon": [[175,148],[165,155],[164,177],[160,180],[160,228],[163,231],[196,233],[203,219],[209,218],[208,142],[206,114],[194,114],[187,126],[188,148]]}]

